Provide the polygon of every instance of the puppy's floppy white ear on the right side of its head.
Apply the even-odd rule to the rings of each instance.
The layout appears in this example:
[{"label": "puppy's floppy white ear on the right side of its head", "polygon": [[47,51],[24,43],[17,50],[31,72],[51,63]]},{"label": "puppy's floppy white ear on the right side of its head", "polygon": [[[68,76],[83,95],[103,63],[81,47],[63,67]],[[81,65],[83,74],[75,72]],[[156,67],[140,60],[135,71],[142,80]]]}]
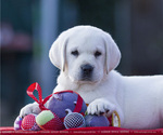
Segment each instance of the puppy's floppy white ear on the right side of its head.
[{"label": "puppy's floppy white ear on the right side of its head", "polygon": [[112,37],[105,32],[104,36],[104,45],[105,45],[105,68],[106,73],[115,69],[121,59],[121,52],[112,39]]}]

